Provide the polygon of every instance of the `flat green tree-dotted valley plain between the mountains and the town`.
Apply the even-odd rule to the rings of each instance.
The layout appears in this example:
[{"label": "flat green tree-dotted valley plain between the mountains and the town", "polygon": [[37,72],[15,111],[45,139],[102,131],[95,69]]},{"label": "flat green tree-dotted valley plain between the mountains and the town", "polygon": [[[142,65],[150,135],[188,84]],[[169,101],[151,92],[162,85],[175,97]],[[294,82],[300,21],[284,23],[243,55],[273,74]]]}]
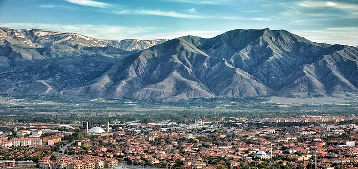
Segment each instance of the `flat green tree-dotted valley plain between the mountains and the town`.
[{"label": "flat green tree-dotted valley plain between the mountains and the town", "polygon": [[3,96],[0,124],[98,124],[121,119],[146,122],[172,120],[180,123],[196,118],[300,118],[304,116],[357,116],[358,98],[278,97],[198,98],[183,102],[135,99],[79,99],[61,96]]}]

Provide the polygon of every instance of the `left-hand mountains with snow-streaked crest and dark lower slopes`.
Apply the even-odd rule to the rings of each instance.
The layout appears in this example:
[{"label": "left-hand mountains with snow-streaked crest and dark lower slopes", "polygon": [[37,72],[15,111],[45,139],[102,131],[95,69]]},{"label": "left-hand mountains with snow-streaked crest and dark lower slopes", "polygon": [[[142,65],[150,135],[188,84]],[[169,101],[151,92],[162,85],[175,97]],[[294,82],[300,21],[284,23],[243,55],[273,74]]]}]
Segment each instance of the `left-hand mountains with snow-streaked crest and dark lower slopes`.
[{"label": "left-hand mountains with snow-streaked crest and dark lower slopes", "polygon": [[[0,28],[0,91],[21,95],[59,94],[92,79],[138,49],[165,40],[126,44],[74,33]],[[115,46],[125,46],[120,49]]]}]

